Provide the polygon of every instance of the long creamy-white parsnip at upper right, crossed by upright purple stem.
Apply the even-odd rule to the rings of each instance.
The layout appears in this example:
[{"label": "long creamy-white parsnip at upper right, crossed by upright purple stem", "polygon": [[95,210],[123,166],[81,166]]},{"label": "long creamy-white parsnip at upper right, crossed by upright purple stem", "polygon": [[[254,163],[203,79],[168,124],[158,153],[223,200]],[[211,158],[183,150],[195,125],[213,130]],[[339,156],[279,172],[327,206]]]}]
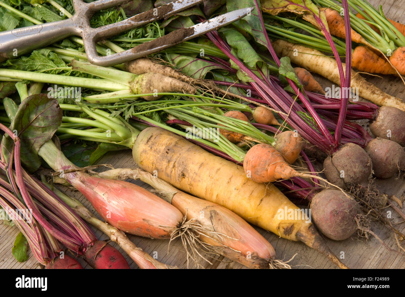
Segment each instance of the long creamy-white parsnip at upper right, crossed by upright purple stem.
[{"label": "long creamy-white parsnip at upper right, crossed by upright purple stem", "polygon": [[[273,47],[277,55],[287,56],[291,59],[291,62],[340,85],[339,71],[335,59],[325,56],[318,50],[282,40],[275,41]],[[298,55],[294,54],[294,50],[298,51]],[[345,64],[342,64],[344,70]],[[352,70],[351,78],[350,86],[358,88],[358,94],[363,98],[380,106],[392,106],[405,111],[405,103],[400,98],[383,92],[372,83],[367,82],[356,71]]]}]

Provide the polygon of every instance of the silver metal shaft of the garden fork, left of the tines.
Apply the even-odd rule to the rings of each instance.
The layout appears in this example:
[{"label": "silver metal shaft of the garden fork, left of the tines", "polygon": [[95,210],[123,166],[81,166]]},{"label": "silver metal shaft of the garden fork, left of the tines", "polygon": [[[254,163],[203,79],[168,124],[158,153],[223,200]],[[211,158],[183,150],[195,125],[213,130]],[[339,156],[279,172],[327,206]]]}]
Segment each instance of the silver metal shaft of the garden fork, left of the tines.
[{"label": "silver metal shaft of the garden fork, left of the tines", "polygon": [[80,31],[80,28],[73,26],[72,19],[64,19],[0,32],[0,62],[79,34]]}]

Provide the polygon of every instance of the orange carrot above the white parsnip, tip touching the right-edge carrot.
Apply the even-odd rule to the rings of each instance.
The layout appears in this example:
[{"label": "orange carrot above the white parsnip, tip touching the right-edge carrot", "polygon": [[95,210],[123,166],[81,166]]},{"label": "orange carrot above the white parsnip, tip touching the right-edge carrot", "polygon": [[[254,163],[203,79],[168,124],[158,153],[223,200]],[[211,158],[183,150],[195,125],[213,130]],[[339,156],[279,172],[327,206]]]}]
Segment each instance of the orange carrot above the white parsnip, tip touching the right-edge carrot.
[{"label": "orange carrot above the white parsnip, tip touching the right-edge carrot", "polygon": [[396,74],[386,59],[363,45],[359,45],[352,52],[352,68],[367,73]]}]

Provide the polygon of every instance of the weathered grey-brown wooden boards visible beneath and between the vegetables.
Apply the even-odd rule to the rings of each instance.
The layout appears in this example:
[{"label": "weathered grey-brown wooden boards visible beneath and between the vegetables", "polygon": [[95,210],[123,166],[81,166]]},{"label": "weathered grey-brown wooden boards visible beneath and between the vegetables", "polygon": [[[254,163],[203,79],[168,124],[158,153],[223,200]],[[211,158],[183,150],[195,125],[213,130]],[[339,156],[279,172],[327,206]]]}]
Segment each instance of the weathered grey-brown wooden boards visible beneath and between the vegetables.
[{"label": "weathered grey-brown wooden boards visible beneath and between the vegetables", "polygon": [[[400,21],[405,23],[405,0],[385,0],[376,1],[369,0],[371,4],[375,7],[377,5],[382,5],[384,13],[390,19],[395,21]],[[331,86],[330,81],[323,79],[314,75],[315,78],[320,81],[322,86],[325,88]],[[405,99],[405,86],[399,78],[393,76],[384,76],[384,80],[371,76],[364,75],[368,81],[374,83],[384,92],[397,96],[399,98]],[[111,152],[106,154],[100,160],[100,164],[111,164],[116,168],[119,167],[134,167],[134,161],[132,160],[132,154],[128,151],[123,152]],[[395,195],[396,197],[402,197],[405,191],[405,181],[403,177],[392,177],[390,179],[376,180],[375,181],[379,190],[385,192],[388,195]],[[140,186],[147,188],[146,184],[142,182],[134,182]],[[92,212],[96,213],[94,208],[89,202],[77,191],[64,188],[66,194],[76,197],[82,203],[88,207]],[[393,224],[396,222],[401,222],[403,219],[400,218],[398,214],[393,212],[392,208],[388,207],[385,211],[392,212],[392,218],[390,219]],[[403,209],[402,209],[403,211]],[[403,211],[404,212],[404,211]],[[98,215],[97,215],[98,216]],[[98,216],[99,217],[99,216]],[[100,218],[100,217],[99,217]],[[399,231],[405,233],[405,223],[395,225]],[[390,231],[386,226],[379,222],[372,222],[372,230],[380,237],[388,246],[398,250],[396,246],[396,241],[392,231]],[[293,268],[296,269],[306,269],[306,268],[329,268],[336,269],[335,265],[330,263],[326,257],[319,254],[317,251],[305,246],[301,242],[288,241],[287,239],[279,238],[277,235],[265,231],[261,228],[255,227],[260,234],[262,234],[269,242],[273,245],[276,251],[276,259],[290,259],[294,254],[297,254],[295,258],[290,262]],[[108,239],[107,235],[104,235],[101,231],[93,229],[96,236],[99,239]],[[3,224],[0,221],[0,268],[2,269],[19,269],[19,268],[40,268],[35,257],[32,253],[29,253],[30,258],[28,261],[19,263],[17,262],[13,255],[11,254],[11,249],[13,247],[14,239],[19,233],[17,227],[11,227]],[[168,250],[168,240],[160,239],[149,239],[134,235],[128,235],[128,237],[140,248],[145,250],[147,253],[156,255],[158,260],[162,263],[168,265],[176,265],[179,268],[186,268],[186,256],[181,247],[181,242],[179,240],[172,241],[171,246]],[[364,239],[358,239],[352,237],[343,241],[333,241],[327,239],[327,244],[330,249],[337,254],[337,256],[344,256],[341,259],[350,268],[405,268],[405,256],[400,255],[397,252],[392,252],[387,250],[382,244],[380,244],[377,239],[371,238],[367,241]],[[113,243],[111,243],[113,244]],[[404,245],[402,243],[402,245]],[[118,248],[122,254],[130,263],[131,268],[138,268],[137,265],[122,251],[117,244],[113,244],[115,248]],[[246,268],[243,265],[224,259],[223,256],[216,256],[211,259],[211,264],[204,263],[205,268],[222,268],[222,269],[234,269],[234,268]],[[81,260],[80,260],[81,261]],[[91,268],[86,263],[81,261],[83,267]],[[194,264],[190,264],[190,268],[194,268]]]}]

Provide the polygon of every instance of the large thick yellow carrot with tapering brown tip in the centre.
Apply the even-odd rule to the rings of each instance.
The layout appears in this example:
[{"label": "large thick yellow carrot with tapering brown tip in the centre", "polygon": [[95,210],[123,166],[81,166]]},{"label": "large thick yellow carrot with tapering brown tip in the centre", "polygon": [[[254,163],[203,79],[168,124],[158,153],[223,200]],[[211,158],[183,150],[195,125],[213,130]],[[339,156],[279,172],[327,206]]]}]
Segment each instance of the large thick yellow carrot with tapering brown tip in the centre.
[{"label": "large thick yellow carrot with tapering brown tip in the centre", "polygon": [[280,237],[303,241],[339,267],[347,268],[329,250],[311,222],[283,216],[285,210],[297,210],[296,205],[272,184],[249,179],[241,166],[156,127],[146,128],[138,135],[132,155],[143,170],[156,170],[159,178],[176,188],[220,204]]}]

